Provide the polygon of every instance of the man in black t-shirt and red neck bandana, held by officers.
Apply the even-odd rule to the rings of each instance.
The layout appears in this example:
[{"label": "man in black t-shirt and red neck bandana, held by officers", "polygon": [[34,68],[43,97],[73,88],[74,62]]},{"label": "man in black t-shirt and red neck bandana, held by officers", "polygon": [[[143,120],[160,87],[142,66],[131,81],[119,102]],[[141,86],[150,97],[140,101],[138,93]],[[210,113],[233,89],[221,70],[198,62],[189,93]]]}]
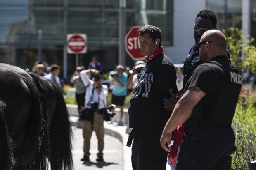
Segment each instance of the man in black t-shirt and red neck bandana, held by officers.
[{"label": "man in black t-shirt and red neck bandana, held by officers", "polygon": [[147,63],[140,74],[129,106],[129,126],[133,128],[127,145],[132,146],[133,170],[166,170],[167,152],[159,143],[161,131],[171,113],[163,105],[170,88],[177,94],[176,71],[161,46],[161,30],[152,25],[138,30],[140,50]]}]

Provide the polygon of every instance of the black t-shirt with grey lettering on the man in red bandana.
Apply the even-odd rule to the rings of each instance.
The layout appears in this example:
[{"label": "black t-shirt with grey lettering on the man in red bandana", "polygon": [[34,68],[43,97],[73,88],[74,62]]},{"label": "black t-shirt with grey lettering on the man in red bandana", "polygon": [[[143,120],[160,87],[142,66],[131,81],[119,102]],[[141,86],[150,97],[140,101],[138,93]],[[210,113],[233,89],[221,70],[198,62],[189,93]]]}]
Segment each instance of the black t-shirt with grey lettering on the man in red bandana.
[{"label": "black t-shirt with grey lettering on the man in red bandana", "polygon": [[171,59],[161,53],[147,62],[140,74],[130,100],[130,127],[163,129],[171,114],[163,104],[164,97],[171,97],[170,88],[178,94],[175,67]]}]

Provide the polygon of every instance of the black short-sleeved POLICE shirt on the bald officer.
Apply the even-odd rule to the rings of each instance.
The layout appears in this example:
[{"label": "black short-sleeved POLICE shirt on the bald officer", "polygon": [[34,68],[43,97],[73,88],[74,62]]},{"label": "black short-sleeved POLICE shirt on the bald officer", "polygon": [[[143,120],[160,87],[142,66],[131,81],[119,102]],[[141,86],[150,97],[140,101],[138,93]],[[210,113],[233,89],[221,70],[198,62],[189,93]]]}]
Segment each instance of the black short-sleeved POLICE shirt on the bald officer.
[{"label": "black short-sleeved POLICE shirt on the bald officer", "polygon": [[[233,68],[234,70],[237,70],[234,64],[231,63],[230,60],[228,60],[227,56],[217,56],[211,59],[211,61],[216,61],[220,63],[220,65],[225,68]],[[233,106],[236,105],[237,98],[239,96],[239,90],[242,86],[242,77],[241,80],[237,80],[237,83],[231,86],[230,85],[230,72],[223,70],[219,65],[213,64],[210,62],[205,62],[203,64],[200,64],[193,72],[191,78],[187,82],[186,89],[190,87],[197,86],[199,87],[206,95],[199,101],[199,103],[194,107],[192,115],[190,118],[185,122],[185,126],[189,126],[194,124],[195,122],[200,121],[209,121],[212,122],[213,117],[216,115],[216,106],[217,104],[220,104],[218,106],[225,108],[225,106],[229,107],[229,113],[223,113],[223,114],[231,114],[228,115],[227,122],[216,120],[215,123],[230,125],[230,116],[232,117],[235,108]],[[241,82],[240,82],[241,81]],[[240,84],[241,83],[241,84]],[[233,92],[228,92],[227,94],[223,95],[223,88],[234,88]],[[221,95],[221,96],[220,96]],[[220,99],[225,100],[220,103]],[[225,103],[227,102],[227,103]],[[231,103],[231,104],[230,104]],[[230,105],[230,106],[229,106]],[[232,110],[232,111],[230,111]],[[221,115],[221,111],[218,111],[218,114]],[[218,117],[219,119],[220,117]],[[221,118],[220,118],[221,119]]]}]

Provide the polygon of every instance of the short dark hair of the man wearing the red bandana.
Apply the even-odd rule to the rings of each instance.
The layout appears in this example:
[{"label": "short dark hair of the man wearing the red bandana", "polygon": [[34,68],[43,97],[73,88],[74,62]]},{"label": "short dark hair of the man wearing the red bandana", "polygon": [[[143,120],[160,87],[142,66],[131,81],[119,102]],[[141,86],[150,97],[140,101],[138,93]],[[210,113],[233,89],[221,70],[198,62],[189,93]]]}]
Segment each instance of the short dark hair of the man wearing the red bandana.
[{"label": "short dark hair of the man wearing the red bandana", "polygon": [[159,45],[161,45],[162,34],[161,34],[161,30],[158,27],[155,27],[153,25],[145,25],[138,30],[139,36],[143,36],[144,34],[147,34],[147,33],[149,33],[153,41],[159,38],[160,39]]}]

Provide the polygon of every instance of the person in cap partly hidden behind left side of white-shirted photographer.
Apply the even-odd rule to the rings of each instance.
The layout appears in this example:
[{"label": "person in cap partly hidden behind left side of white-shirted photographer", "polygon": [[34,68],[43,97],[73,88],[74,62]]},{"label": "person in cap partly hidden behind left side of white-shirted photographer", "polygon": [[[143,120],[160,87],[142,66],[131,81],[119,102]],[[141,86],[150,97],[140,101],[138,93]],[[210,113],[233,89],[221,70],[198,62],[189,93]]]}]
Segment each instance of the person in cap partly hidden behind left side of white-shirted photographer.
[{"label": "person in cap partly hidden behind left side of white-shirted photographer", "polygon": [[78,66],[76,67],[76,71],[72,74],[70,78],[70,83],[75,83],[76,84],[76,102],[78,105],[78,112],[81,109],[82,106],[85,104],[85,92],[86,92],[86,87],[83,84],[83,81],[79,75],[81,71],[85,69],[84,66]]}]

